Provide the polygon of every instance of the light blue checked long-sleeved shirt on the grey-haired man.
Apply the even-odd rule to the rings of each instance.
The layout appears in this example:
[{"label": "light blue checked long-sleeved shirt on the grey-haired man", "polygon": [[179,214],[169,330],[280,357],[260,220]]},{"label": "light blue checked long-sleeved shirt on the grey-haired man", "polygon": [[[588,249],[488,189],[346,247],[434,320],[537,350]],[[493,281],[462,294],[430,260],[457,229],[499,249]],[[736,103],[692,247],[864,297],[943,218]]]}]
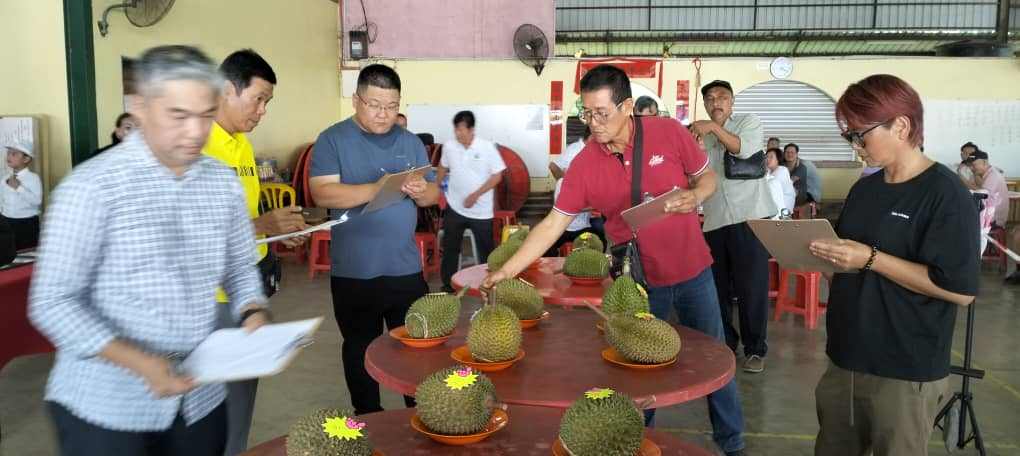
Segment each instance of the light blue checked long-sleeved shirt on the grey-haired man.
[{"label": "light blue checked long-sleeved shirt on the grey-haired man", "polygon": [[113,430],[207,415],[222,385],[160,399],[98,355],[114,339],[157,356],[189,353],[215,328],[220,284],[235,318],[264,302],[254,239],[237,174],[213,158],[177,176],[137,133],[75,167],[46,211],[29,304],[57,348],[46,400]]}]

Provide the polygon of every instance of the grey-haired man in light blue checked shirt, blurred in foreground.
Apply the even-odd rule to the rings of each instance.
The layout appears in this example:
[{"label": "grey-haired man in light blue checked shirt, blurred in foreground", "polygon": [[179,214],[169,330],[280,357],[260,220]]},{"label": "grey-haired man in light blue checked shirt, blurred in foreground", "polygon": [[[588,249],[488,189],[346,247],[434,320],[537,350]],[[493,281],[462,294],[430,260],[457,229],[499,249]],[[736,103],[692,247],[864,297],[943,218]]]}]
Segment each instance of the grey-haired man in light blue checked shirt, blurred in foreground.
[{"label": "grey-haired man in light blue checked shirt, blurred in foreground", "polygon": [[225,389],[174,370],[216,327],[216,287],[268,320],[235,172],[202,155],[222,79],[201,51],[138,62],[141,120],[75,167],[46,213],[30,317],[56,346],[46,388],[63,456],[219,456]]}]

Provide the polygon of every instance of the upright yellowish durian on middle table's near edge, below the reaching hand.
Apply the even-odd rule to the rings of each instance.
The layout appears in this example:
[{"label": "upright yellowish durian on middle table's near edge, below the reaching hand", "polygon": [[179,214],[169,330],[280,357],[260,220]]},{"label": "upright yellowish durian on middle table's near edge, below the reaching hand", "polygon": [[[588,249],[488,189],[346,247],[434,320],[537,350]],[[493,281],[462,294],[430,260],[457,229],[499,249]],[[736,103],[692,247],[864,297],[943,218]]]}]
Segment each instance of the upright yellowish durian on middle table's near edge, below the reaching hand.
[{"label": "upright yellowish durian on middle table's near edge, below the reaching hand", "polygon": [[499,362],[513,359],[520,351],[520,319],[502,304],[486,304],[471,318],[467,349],[474,359]]}]

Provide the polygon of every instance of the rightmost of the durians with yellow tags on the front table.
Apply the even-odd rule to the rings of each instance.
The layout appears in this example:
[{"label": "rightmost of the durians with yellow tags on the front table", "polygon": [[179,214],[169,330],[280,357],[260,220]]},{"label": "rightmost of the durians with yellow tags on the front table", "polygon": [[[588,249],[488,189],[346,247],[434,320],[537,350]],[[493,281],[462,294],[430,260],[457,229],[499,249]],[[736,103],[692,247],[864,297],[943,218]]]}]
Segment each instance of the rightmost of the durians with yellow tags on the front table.
[{"label": "rightmost of the durians with yellow tags on the front table", "polygon": [[573,456],[634,456],[644,435],[633,401],[607,388],[586,391],[560,420],[560,443]]}]

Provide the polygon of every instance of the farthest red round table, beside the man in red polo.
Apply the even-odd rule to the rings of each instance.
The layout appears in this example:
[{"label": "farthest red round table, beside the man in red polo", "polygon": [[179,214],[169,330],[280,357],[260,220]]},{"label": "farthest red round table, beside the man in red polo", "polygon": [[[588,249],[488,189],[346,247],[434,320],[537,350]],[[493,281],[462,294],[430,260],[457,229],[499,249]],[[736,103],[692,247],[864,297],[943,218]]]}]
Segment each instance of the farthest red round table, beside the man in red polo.
[{"label": "farthest red round table, beside the man in red polo", "polygon": [[[611,278],[606,278],[601,285],[573,285],[563,272],[560,272],[563,270],[562,257],[543,257],[538,262],[538,266],[524,269],[518,276],[533,285],[546,304],[583,306],[584,301],[589,301],[597,306],[602,305],[602,295],[613,283]],[[487,274],[489,274],[488,265],[477,264],[453,274],[451,282],[455,289],[469,287],[468,295],[481,296],[478,285]]]}]

